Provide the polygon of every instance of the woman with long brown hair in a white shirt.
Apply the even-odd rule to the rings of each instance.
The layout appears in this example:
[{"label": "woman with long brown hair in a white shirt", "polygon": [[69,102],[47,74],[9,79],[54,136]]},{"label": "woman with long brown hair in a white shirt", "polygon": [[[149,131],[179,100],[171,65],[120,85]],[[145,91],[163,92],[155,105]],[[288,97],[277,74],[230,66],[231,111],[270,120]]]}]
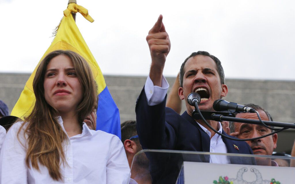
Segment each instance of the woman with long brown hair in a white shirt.
[{"label": "woman with long brown hair in a white shirt", "polygon": [[33,89],[32,113],[4,141],[1,183],[127,183],[122,142],[83,123],[97,98],[87,62],[73,51],[53,51],[40,63]]}]

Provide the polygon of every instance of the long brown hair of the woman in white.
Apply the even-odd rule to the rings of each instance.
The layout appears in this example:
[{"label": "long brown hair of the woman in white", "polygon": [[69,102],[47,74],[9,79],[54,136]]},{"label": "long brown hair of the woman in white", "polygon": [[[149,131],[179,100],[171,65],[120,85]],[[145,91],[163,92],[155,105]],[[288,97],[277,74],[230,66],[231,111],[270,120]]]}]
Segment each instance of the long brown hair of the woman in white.
[{"label": "long brown hair of the woman in white", "polygon": [[47,64],[58,55],[65,55],[71,59],[82,87],[83,98],[76,109],[78,122],[81,123],[81,126],[84,118],[92,112],[97,101],[97,86],[91,69],[80,55],[73,51],[58,50],[49,53],[41,61],[33,81],[35,106],[32,113],[25,118],[18,131],[18,136],[24,129],[24,134],[27,137],[25,159],[27,166],[30,167],[30,162],[36,170],[40,170],[38,163],[46,166],[53,180],[63,178],[60,173],[60,165],[65,164],[66,161],[62,143],[67,136],[56,119],[58,111],[45,100],[43,83]]}]

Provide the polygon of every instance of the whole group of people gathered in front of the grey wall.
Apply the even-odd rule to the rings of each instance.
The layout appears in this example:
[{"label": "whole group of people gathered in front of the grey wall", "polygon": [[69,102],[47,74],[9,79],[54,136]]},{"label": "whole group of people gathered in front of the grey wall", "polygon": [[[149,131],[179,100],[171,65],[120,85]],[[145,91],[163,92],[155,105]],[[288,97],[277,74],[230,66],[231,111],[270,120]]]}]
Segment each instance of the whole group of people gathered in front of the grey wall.
[{"label": "whole group of people gathered in front of the grey wall", "polygon": [[[179,155],[140,151],[273,154],[276,133],[246,142],[221,135],[256,138],[273,132],[274,127],[208,120],[216,133],[203,120],[192,117],[194,107],[185,100],[190,93],[200,95],[201,111],[214,111],[214,101],[227,96],[229,90],[221,62],[210,53],[197,51],[188,56],[167,96],[169,84],[163,69],[171,42],[162,19],[160,15],[146,37],[152,59],[150,73],[136,102],[136,121],[121,124],[121,140],[96,131],[99,84],[84,58],[73,51],[53,51],[42,60],[33,81],[36,102],[29,116],[23,120],[9,116],[8,107],[0,101],[0,183],[183,183],[184,159]],[[186,111],[180,115],[181,100],[185,100]],[[246,106],[258,111],[262,120],[273,121],[263,107]],[[235,116],[258,120],[256,113]],[[295,156],[295,146],[291,156]],[[293,160],[271,157],[234,159],[212,154],[190,159],[295,166]]]}]

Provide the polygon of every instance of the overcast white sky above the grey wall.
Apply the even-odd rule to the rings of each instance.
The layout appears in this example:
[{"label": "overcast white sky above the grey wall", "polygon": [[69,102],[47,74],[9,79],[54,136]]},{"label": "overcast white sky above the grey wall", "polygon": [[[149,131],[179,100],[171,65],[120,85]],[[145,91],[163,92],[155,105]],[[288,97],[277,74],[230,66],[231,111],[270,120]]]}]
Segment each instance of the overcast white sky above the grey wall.
[{"label": "overcast white sky above the grey wall", "polygon": [[[0,0],[0,72],[31,73],[53,40],[68,0]],[[50,3],[49,3],[50,2]],[[95,20],[76,23],[102,72],[148,75],[145,37],[159,14],[171,40],[164,75],[208,51],[226,78],[295,80],[294,1],[77,0]]]}]

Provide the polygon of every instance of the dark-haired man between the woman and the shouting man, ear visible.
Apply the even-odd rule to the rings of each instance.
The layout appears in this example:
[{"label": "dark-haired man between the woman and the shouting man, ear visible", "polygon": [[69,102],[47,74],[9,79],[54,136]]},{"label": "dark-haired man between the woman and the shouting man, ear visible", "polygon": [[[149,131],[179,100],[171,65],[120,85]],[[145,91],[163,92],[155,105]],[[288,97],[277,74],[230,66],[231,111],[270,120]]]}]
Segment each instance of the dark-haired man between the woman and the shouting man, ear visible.
[{"label": "dark-haired man between the woman and the shouting man, ear visible", "polygon": [[[131,169],[134,155],[142,150],[137,136],[135,120],[125,121],[121,124],[121,137],[129,167]],[[145,153],[136,155],[132,164],[130,184],[151,184],[152,179],[148,166],[149,160],[145,156]]]}]

